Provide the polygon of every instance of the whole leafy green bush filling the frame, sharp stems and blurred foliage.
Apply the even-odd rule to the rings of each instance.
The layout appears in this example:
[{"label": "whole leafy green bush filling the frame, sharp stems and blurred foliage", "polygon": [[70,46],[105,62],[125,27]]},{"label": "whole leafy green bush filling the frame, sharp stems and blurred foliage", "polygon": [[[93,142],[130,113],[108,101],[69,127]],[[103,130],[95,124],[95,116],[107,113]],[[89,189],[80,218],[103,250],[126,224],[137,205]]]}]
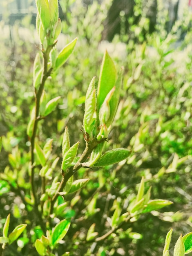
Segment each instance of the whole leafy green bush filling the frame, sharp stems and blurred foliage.
[{"label": "whole leafy green bush filling the frame, sharp stems and blurred foliage", "polygon": [[166,34],[159,11],[121,58],[127,35],[98,50],[110,3],[61,0],[61,22],[36,0],[39,46],[20,38],[30,16],[0,39],[0,255],[192,251],[190,18]]}]

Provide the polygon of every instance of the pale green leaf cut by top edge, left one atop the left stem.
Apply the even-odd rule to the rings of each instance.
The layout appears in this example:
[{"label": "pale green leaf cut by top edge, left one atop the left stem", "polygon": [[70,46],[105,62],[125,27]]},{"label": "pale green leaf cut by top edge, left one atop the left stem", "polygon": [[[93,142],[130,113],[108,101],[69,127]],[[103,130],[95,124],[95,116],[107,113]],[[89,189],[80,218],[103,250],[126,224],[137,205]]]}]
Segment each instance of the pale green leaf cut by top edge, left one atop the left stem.
[{"label": "pale green leaf cut by top edge, left one atop the left stem", "polygon": [[48,0],[36,0],[36,5],[42,26],[46,31],[50,23],[49,2]]}]

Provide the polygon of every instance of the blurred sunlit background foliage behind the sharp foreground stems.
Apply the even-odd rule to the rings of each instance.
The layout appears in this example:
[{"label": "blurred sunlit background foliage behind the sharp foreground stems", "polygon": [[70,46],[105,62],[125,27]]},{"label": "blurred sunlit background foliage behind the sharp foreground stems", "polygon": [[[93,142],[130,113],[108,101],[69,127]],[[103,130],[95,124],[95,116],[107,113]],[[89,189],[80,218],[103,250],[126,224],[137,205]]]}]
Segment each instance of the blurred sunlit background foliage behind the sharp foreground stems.
[{"label": "blurred sunlit background foliage behind the sharp foreground stems", "polygon": [[[2,2],[7,11],[0,21],[0,172],[11,170],[13,180],[0,180],[0,228],[8,213],[14,216],[13,227],[32,220],[19,196],[24,192],[27,195],[29,186],[25,183],[30,159],[26,129],[34,104],[32,68],[38,52],[33,2],[25,15],[20,11],[19,16],[10,13],[9,4],[14,1]],[[91,180],[74,198],[67,198],[69,202],[72,199],[72,208],[66,209],[63,218],[75,216],[65,241],[71,255],[161,255],[170,227],[176,232],[175,240],[192,230],[192,16],[188,4],[181,15],[179,2],[173,4],[170,14],[162,1],[59,1],[63,34],[58,47],[76,36],[78,43],[67,64],[47,81],[47,99],[59,95],[61,99],[56,110],[40,122],[40,140],[45,144],[47,138],[53,138],[53,155],[61,159],[61,139],[68,126],[71,145],[80,140],[79,150],[83,150],[80,129],[85,94],[92,77],[98,79],[107,48],[118,70],[125,67],[125,74],[106,147],[132,150],[127,161],[116,166],[79,170],[79,178]],[[13,22],[11,16],[18,18]],[[60,162],[53,175],[59,172]],[[14,175],[18,175],[23,191],[14,189]],[[167,199],[174,204],[166,212],[141,216],[103,243],[84,244],[92,222],[96,223],[95,231],[101,232],[107,229],[106,216],[112,215],[117,204],[123,212],[132,202],[142,176],[147,188],[152,186],[152,199]],[[141,236],[131,237],[130,230]],[[36,227],[31,232],[33,241],[26,248],[29,236],[24,234],[18,255],[36,255],[31,246],[40,231]],[[14,246],[13,255],[17,255]],[[58,252],[62,249],[60,245]]]}]

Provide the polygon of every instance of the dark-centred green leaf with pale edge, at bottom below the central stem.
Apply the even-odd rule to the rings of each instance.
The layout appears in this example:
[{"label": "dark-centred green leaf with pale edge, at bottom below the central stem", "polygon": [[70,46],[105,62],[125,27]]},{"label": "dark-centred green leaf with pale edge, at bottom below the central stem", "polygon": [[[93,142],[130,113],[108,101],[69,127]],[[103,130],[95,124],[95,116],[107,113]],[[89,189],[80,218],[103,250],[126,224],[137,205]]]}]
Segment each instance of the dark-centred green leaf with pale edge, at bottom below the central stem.
[{"label": "dark-centred green leaf with pale edge, at bottom below the central stem", "polygon": [[70,222],[68,220],[61,220],[53,229],[51,238],[52,245],[56,245],[60,240],[64,238],[70,227]]}]

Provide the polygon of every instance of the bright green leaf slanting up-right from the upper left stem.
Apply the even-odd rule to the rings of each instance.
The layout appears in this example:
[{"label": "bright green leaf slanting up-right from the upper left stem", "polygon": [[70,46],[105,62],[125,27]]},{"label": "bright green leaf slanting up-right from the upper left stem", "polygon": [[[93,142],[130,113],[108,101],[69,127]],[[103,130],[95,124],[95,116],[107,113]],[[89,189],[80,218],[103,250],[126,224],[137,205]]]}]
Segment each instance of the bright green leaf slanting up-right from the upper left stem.
[{"label": "bright green leaf slanting up-right from the upper left stem", "polygon": [[75,38],[73,41],[71,41],[71,43],[66,45],[63,48],[63,50],[59,53],[59,55],[57,57],[57,60],[56,60],[55,69],[57,69],[58,67],[62,66],[67,61],[67,59],[69,58],[69,56],[71,55],[71,53],[74,50],[76,42],[77,42],[77,38]]}]

